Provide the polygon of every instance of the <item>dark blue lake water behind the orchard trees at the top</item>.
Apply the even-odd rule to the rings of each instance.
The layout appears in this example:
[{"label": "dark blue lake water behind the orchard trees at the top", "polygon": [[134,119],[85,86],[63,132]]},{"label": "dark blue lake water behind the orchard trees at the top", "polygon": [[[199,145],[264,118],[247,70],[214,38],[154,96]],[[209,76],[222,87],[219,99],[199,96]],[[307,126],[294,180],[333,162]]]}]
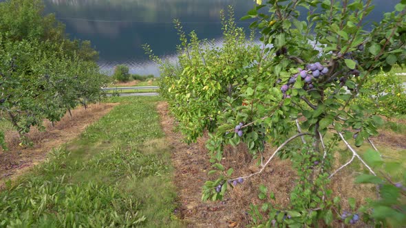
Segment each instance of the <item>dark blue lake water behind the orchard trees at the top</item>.
[{"label": "dark blue lake water behind the orchard trees at the top", "polygon": [[[379,21],[400,0],[374,0],[376,8],[368,21]],[[100,52],[99,65],[111,71],[115,65],[129,66],[131,73],[156,76],[159,71],[144,54],[148,43],[161,57],[175,56],[178,35],[173,19],[182,21],[184,30],[195,30],[200,38],[222,36],[220,10],[233,5],[241,18],[253,7],[253,0],[45,0],[45,12],[56,14],[71,38],[89,40]],[[237,22],[240,27],[249,23]]]}]

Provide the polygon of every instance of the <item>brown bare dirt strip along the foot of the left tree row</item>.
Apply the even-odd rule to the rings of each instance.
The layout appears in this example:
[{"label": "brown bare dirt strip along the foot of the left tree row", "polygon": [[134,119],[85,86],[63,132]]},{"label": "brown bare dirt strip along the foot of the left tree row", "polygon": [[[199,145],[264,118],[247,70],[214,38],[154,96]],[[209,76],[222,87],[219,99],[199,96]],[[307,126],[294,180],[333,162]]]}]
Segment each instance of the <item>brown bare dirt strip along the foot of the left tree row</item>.
[{"label": "brown bare dirt strip along the foot of the left tree row", "polygon": [[44,123],[45,131],[33,127],[28,133],[32,147],[19,146],[17,131],[6,132],[6,143],[9,150],[0,151],[0,186],[6,179],[14,179],[35,164],[43,161],[52,148],[60,146],[80,135],[89,124],[106,115],[117,104],[91,104],[87,109],[79,107],[72,111],[72,117],[65,115],[60,122],[51,126]]}]

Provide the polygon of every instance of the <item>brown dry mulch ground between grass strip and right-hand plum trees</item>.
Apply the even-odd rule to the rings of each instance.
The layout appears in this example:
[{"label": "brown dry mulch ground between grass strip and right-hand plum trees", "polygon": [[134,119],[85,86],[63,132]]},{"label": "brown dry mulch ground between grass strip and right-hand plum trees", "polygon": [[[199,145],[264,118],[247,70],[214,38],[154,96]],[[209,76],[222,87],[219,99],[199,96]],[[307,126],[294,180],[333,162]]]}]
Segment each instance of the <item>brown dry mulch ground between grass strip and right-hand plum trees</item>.
[{"label": "brown dry mulch ground between grass strip and right-hand plum trees", "polygon": [[[204,146],[205,137],[197,143],[187,145],[182,135],[173,131],[174,120],[169,115],[167,103],[158,104],[158,113],[167,140],[173,148],[172,163],[175,168],[175,185],[178,187],[180,218],[188,227],[245,227],[249,223],[247,209],[250,203],[259,203],[258,186],[264,183],[268,190],[275,193],[276,203],[286,205],[289,193],[294,187],[295,172],[290,161],[275,159],[270,168],[244,183],[237,185],[222,202],[202,202],[202,185],[209,180],[207,172],[211,170],[209,156]],[[226,148],[224,168],[233,167],[235,176],[257,171],[255,161],[244,157],[244,146]],[[243,162],[242,162],[243,161]],[[248,166],[247,166],[248,164]]]}]

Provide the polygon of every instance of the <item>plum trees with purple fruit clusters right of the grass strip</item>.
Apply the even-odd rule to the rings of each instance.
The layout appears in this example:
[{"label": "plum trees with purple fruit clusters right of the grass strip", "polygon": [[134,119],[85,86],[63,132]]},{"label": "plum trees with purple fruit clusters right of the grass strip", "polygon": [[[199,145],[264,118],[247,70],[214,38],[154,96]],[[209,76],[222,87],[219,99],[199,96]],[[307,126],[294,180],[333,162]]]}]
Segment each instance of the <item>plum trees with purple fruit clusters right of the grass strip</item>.
[{"label": "plum trees with purple fruit clusters right of the grass strip", "polygon": [[[258,12],[266,7],[268,14]],[[306,10],[305,20],[300,19],[299,8]],[[202,200],[221,200],[229,188],[261,174],[283,153],[298,174],[290,205],[264,203],[261,209],[253,205],[255,225],[302,227],[331,225],[332,220],[405,224],[406,176],[395,183],[385,174],[399,166],[384,163],[370,139],[378,134],[382,120],[357,99],[368,92],[364,84],[372,76],[405,60],[406,1],[399,1],[394,12],[365,31],[365,16],[373,8],[371,0],[257,1],[244,19],[257,19],[250,27],[261,32],[262,47],[239,43],[240,30],[224,20],[223,47],[202,45],[194,33],[189,43],[180,32],[178,65],[152,56],[161,63],[163,95],[186,139],[193,141],[209,130],[213,170]],[[299,139],[299,148],[290,147]],[[339,141],[351,159],[333,170]],[[277,149],[264,157],[268,142]],[[365,142],[374,150],[361,157],[355,147]],[[240,143],[259,159],[259,168],[233,176],[233,168],[226,170],[222,164],[224,146]],[[340,199],[333,198],[327,186],[355,160],[365,168],[356,181],[377,184],[380,198],[357,212],[341,212]],[[275,197],[264,186],[259,190],[261,199]],[[348,202],[355,210],[353,199]]]}]

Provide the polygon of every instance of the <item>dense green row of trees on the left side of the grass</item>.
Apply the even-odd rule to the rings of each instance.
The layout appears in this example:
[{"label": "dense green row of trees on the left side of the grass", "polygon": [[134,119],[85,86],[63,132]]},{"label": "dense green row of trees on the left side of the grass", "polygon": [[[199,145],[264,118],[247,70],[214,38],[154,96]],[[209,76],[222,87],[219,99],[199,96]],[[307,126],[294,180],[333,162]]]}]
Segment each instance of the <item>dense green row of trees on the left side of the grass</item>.
[{"label": "dense green row of trees on the left side of the grass", "polygon": [[[78,104],[100,100],[107,78],[89,41],[70,40],[40,0],[0,3],[0,111],[24,139],[43,119],[57,122]],[[4,133],[0,144],[6,147]]]}]

